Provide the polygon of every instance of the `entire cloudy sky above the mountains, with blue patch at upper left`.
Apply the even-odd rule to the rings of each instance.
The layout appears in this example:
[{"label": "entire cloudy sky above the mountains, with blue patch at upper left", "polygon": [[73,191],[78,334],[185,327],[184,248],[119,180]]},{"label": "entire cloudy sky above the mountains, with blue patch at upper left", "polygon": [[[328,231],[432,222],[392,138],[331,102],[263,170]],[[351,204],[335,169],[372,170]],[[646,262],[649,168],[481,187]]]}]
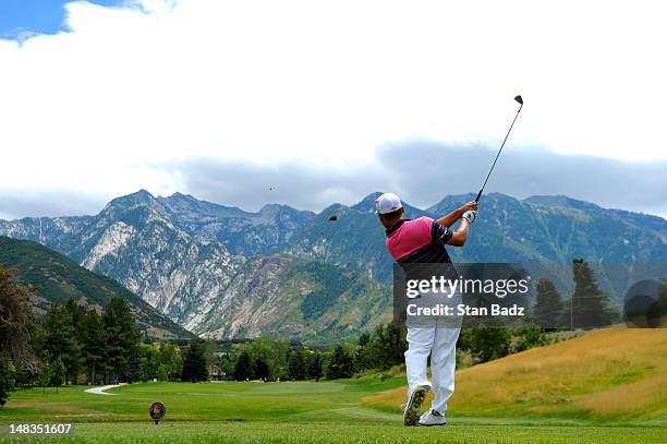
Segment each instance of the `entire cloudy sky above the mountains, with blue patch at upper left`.
[{"label": "entire cloudy sky above the mountains, with blue patch at upper left", "polygon": [[664,2],[0,1],[0,217],[480,187],[667,215]]}]

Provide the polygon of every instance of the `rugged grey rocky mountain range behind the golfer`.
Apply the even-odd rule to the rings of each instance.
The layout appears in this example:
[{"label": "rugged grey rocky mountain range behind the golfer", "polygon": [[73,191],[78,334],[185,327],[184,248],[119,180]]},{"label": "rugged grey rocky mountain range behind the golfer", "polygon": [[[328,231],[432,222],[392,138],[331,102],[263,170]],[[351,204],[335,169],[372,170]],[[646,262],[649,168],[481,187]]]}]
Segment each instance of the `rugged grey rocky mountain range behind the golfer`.
[{"label": "rugged grey rocky mountain range behind the golfer", "polygon": [[[39,242],[118,280],[199,335],[330,336],[368,328],[388,310],[392,262],[374,214],[378,194],[319,213],[277,204],[252,213],[141,190],[95,216],[0,220],[0,235]],[[436,218],[473,199],[405,208],[409,217]],[[566,196],[492,193],[466,245],[450,253],[463,262],[666,263],[667,220]],[[326,299],[336,297],[336,307],[304,309],[331,283],[338,293]]]}]

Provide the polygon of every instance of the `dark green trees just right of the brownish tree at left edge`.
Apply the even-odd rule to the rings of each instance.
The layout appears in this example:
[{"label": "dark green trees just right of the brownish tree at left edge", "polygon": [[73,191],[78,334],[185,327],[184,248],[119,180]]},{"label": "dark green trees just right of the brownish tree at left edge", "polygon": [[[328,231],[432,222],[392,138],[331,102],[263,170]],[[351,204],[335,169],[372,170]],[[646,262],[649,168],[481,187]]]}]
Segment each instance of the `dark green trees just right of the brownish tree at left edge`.
[{"label": "dark green trees just right of the brownish tree at left edge", "polygon": [[112,298],[101,313],[73,299],[51,304],[35,324],[31,347],[40,365],[17,374],[23,385],[166,381],[182,370],[178,347],[142,338],[122,298]]}]

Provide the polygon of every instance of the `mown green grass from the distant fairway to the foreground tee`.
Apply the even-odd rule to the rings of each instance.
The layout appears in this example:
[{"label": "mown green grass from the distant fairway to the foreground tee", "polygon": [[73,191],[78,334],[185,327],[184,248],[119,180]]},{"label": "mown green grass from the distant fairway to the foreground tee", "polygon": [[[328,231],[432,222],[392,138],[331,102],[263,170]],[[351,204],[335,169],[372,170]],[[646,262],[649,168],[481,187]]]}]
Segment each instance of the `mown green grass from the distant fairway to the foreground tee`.
[{"label": "mown green grass from the distant fairway to the foreground tee", "polygon": [[[373,393],[402,379],[282,383],[148,383],[84,393],[86,387],[40,388],[12,394],[1,423],[75,422],[76,442],[618,442],[664,443],[662,423],[456,417],[446,428],[404,428],[398,413],[362,407]],[[165,420],[155,425],[148,406],[161,400]],[[7,441],[10,436],[4,435]],[[52,440],[52,439],[50,439]]]}]

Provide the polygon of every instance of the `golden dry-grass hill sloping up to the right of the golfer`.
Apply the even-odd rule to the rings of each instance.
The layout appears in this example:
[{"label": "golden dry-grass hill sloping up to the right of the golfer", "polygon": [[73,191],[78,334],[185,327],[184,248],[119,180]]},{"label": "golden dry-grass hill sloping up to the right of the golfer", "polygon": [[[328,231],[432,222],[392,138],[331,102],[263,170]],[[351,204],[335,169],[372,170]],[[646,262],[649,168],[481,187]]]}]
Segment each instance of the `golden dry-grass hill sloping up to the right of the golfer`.
[{"label": "golden dry-grass hill sloping up to the right of the golfer", "polygon": [[[459,417],[569,418],[667,424],[667,329],[607,328],[457,372]],[[398,411],[405,388],[363,399]]]}]

